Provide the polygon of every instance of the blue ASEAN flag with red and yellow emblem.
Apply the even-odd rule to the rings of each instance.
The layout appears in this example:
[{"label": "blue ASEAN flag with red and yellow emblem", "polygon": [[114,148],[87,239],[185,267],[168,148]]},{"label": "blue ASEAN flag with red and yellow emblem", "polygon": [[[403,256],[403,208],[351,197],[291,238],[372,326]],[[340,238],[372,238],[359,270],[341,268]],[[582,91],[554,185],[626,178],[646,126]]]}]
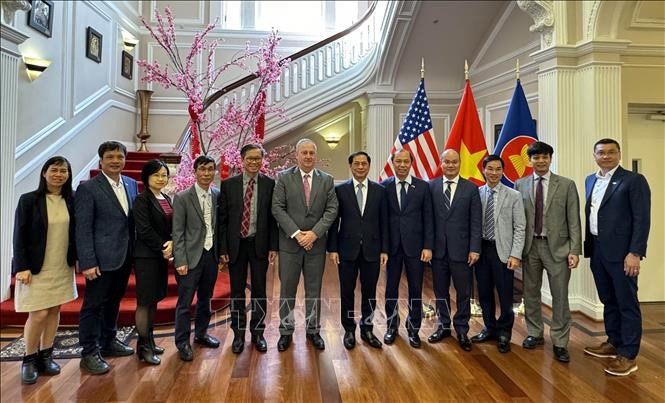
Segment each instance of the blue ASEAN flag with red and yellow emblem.
[{"label": "blue ASEAN flag with red and yellow emblem", "polygon": [[536,123],[531,117],[529,104],[518,79],[506,120],[494,148],[494,154],[500,156],[505,164],[501,181],[506,186],[513,187],[515,181],[531,175],[533,167],[526,150],[537,140]]}]

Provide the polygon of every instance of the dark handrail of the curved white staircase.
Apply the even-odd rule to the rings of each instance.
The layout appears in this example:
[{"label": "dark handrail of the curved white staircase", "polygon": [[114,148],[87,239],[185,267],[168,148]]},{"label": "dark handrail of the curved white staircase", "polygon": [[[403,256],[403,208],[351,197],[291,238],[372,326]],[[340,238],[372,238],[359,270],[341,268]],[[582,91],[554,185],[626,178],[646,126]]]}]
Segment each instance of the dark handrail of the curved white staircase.
[{"label": "dark handrail of the curved white staircase", "polygon": [[[369,19],[369,17],[374,13],[374,10],[376,9],[376,4],[377,3],[378,3],[378,0],[372,1],[369,8],[367,9],[367,11],[365,11],[365,14],[363,14],[362,18],[360,18],[357,22],[355,22],[354,24],[352,24],[348,28],[346,28],[346,29],[344,29],[340,32],[337,32],[337,33],[335,33],[335,34],[333,34],[333,35],[331,35],[331,36],[329,36],[329,37],[327,37],[327,38],[325,38],[325,39],[323,39],[323,40],[321,40],[321,41],[319,41],[319,42],[317,42],[317,43],[315,43],[311,46],[308,46],[305,49],[302,49],[302,50],[300,50],[300,51],[298,51],[298,52],[296,52],[296,53],[294,53],[290,56],[282,58],[280,60],[280,62],[283,62],[285,60],[290,60],[290,61],[297,60],[297,59],[299,59],[303,56],[306,56],[306,55],[312,53],[313,51],[315,51],[317,49],[320,49],[320,48],[328,45],[329,43],[332,43],[332,42],[334,42],[334,41],[350,34],[353,31],[355,31],[356,28],[358,28],[365,21],[367,21]],[[243,85],[251,82],[252,80],[254,80],[256,78],[257,78],[257,75],[252,73],[252,74],[249,74],[249,75],[247,75],[243,78],[240,78],[240,79],[232,82],[231,84],[228,84],[228,85],[224,86],[224,88],[221,88],[221,89],[217,90],[214,94],[209,95],[203,101],[203,110],[204,111],[207,110],[210,107],[210,105],[212,105],[215,101],[217,101],[219,98],[221,98],[224,94],[226,94],[230,91],[233,91],[237,88],[240,88]],[[176,143],[175,150],[178,154],[182,153],[183,150],[186,147],[186,142],[189,139],[189,135],[190,135],[191,124],[192,124],[192,121],[190,119],[187,122],[187,126],[185,127],[182,134],[180,135],[180,138],[178,139],[178,142]]]}]

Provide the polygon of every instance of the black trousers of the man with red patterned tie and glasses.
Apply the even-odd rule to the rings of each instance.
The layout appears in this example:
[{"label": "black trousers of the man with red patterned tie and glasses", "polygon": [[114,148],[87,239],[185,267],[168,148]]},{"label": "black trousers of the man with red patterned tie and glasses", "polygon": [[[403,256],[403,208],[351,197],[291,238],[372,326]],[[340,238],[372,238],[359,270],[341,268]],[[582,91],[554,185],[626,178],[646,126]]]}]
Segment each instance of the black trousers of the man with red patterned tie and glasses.
[{"label": "black trousers of the man with red patterned tie and glasses", "polygon": [[257,256],[254,237],[240,239],[238,258],[229,264],[231,277],[231,329],[244,332],[247,328],[245,314],[245,288],[247,285],[247,265],[249,264],[251,281],[252,319],[250,331],[263,333],[268,309],[266,302],[266,273],[268,272],[268,256]]}]

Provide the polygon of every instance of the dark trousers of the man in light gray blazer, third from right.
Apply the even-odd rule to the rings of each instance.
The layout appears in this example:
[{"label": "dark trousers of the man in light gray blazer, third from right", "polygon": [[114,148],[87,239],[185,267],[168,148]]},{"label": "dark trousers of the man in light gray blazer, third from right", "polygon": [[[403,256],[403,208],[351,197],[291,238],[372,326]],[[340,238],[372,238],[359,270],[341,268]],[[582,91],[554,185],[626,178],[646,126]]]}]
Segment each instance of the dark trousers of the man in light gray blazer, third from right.
[{"label": "dark trousers of the man in light gray blazer, third from right", "polygon": [[[476,280],[478,281],[478,299],[483,309],[483,323],[485,329],[499,337],[510,339],[513,332],[513,274],[505,263],[499,259],[496,252],[496,243],[483,240],[482,253],[476,265]],[[501,314],[496,319],[496,303],[494,289],[499,296]]]}]

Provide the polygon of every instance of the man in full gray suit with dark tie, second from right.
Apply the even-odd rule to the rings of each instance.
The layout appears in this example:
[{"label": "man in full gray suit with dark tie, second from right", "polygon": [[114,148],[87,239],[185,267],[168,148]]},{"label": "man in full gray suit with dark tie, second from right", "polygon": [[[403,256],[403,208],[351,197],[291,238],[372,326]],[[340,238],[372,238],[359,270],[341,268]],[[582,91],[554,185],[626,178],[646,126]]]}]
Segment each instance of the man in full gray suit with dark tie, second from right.
[{"label": "man in full gray suit with dark tie, second from right", "polygon": [[577,267],[582,252],[580,201],[575,183],[550,172],[554,149],[536,141],[527,149],[533,175],[519,179],[515,189],[522,194],[526,212],[526,238],[522,260],[524,270],[524,309],[529,335],[522,347],[544,343],[540,288],[543,270],[547,272],[552,294],[550,336],[554,356],[570,361],[567,345],[570,334],[568,282],[570,270]]}]

